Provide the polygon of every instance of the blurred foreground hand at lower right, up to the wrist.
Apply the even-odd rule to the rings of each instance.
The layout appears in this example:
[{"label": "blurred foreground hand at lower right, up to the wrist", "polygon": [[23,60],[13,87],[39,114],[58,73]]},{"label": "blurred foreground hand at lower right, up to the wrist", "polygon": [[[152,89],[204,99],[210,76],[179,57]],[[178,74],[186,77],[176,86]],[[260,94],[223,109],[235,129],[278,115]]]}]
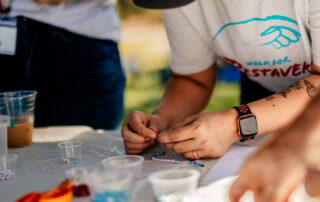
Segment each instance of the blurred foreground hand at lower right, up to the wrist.
[{"label": "blurred foreground hand at lower right, up to the wrist", "polygon": [[276,138],[243,165],[229,192],[231,202],[238,202],[249,190],[256,202],[287,202],[306,173],[305,163]]}]

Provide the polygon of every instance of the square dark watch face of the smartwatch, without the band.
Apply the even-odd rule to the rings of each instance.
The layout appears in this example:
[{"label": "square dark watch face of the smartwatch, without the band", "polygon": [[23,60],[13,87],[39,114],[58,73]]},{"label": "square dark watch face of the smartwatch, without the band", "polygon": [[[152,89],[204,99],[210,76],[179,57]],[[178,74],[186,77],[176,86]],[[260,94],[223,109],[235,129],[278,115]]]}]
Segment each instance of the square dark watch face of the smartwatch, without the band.
[{"label": "square dark watch face of the smartwatch, without the band", "polygon": [[243,138],[248,138],[258,133],[257,120],[254,115],[240,117],[239,127]]}]

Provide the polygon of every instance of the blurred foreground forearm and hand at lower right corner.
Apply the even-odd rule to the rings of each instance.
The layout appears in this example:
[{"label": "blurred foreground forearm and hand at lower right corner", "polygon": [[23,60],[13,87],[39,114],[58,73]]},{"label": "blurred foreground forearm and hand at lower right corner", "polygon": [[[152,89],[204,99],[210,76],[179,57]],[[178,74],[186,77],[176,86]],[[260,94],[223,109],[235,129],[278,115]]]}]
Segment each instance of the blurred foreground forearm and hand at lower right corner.
[{"label": "blurred foreground forearm and hand at lower right corner", "polygon": [[286,202],[304,183],[311,196],[320,196],[319,114],[320,94],[290,127],[248,158],[230,189],[231,202],[249,190],[255,201]]}]

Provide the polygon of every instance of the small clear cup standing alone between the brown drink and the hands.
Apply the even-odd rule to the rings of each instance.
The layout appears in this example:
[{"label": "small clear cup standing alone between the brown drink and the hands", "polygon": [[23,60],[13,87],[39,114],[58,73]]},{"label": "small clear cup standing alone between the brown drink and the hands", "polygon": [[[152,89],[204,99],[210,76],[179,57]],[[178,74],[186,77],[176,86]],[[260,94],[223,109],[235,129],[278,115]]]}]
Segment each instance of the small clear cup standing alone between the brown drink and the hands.
[{"label": "small clear cup standing alone between the brown drink and the hands", "polygon": [[81,141],[65,141],[58,143],[60,148],[61,159],[66,164],[79,164],[82,156]]}]

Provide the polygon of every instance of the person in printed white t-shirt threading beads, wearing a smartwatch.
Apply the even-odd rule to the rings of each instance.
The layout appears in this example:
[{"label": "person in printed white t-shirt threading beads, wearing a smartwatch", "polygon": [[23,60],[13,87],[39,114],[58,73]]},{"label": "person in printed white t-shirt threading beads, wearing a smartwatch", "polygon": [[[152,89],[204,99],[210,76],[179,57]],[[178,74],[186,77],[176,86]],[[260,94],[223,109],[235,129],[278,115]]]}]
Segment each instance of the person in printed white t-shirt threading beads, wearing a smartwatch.
[{"label": "person in printed white t-shirt threading beads, wearing a smartwatch", "polygon": [[[290,125],[320,85],[318,0],[197,0],[162,14],[172,77],[152,114],[128,114],[122,128],[128,153],[159,141],[188,159],[221,157],[236,141]],[[199,114],[218,59],[245,74],[243,105]]]}]

